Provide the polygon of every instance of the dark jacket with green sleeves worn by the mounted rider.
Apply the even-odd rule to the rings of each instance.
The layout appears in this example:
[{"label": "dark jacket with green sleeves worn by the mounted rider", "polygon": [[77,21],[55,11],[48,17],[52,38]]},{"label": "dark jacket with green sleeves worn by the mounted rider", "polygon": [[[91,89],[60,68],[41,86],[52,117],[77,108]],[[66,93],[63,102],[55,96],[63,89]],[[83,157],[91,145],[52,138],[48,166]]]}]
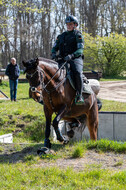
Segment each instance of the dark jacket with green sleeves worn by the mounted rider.
[{"label": "dark jacket with green sleeves worn by the mounted rider", "polygon": [[84,40],[78,30],[66,31],[59,35],[52,48],[52,53],[59,51],[59,56],[64,58],[68,54],[74,54],[74,58],[83,55]]}]

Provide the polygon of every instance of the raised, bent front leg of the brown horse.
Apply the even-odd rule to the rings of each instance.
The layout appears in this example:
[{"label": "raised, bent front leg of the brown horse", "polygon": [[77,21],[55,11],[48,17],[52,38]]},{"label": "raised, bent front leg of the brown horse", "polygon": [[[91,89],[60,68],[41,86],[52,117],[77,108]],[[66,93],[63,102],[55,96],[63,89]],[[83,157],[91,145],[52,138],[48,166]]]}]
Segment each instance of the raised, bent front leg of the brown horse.
[{"label": "raised, bent front leg of the brown horse", "polygon": [[54,118],[53,120],[53,127],[57,136],[57,140],[59,140],[60,142],[65,142],[65,138],[63,137],[63,135],[61,134],[61,131],[58,127],[59,121],[61,120],[61,118],[64,116],[64,114],[66,114],[67,112],[67,106],[63,106],[60,111],[58,112],[57,116]]}]

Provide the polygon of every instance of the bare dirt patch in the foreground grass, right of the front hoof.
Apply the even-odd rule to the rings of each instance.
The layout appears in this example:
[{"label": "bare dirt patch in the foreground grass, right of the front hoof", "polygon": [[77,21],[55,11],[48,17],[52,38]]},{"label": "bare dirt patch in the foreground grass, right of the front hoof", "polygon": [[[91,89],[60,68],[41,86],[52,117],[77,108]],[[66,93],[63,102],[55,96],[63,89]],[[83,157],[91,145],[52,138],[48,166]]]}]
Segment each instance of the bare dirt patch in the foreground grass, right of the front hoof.
[{"label": "bare dirt patch in the foreground grass, right of the front hoof", "polygon": [[55,162],[43,162],[37,164],[38,167],[53,166],[59,168],[71,167],[74,170],[82,171],[88,168],[110,169],[115,171],[126,170],[126,154],[115,154],[112,152],[98,153],[94,150],[89,150],[83,158],[68,158],[58,159]]}]

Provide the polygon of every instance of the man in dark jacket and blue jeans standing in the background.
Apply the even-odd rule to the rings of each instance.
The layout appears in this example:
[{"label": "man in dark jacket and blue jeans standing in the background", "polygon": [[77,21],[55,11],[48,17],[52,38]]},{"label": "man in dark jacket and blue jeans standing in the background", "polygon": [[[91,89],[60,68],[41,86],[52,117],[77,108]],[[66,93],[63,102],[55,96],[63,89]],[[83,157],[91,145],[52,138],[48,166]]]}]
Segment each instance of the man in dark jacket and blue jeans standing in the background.
[{"label": "man in dark jacket and blue jeans standing in the background", "polygon": [[11,58],[11,63],[7,65],[5,74],[9,77],[11,101],[17,101],[17,86],[20,69],[14,57]]}]

